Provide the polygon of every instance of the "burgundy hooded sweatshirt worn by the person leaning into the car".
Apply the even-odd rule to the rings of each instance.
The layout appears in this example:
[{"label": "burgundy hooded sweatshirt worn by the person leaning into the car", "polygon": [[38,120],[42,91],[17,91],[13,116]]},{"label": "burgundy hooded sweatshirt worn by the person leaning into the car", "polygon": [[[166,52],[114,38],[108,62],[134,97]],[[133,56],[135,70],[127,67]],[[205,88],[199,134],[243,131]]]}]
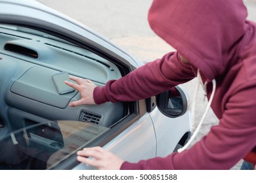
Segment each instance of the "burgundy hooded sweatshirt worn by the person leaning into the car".
[{"label": "burgundy hooded sweatshirt worn by the person leaning into the car", "polygon": [[124,162],[121,169],[230,169],[242,158],[256,163],[256,25],[246,17],[242,0],[152,3],[150,27],[178,51],[96,87],[95,102],[150,97],[191,80],[200,69],[208,97],[211,80],[217,82],[211,108],[219,124],[188,150]]}]

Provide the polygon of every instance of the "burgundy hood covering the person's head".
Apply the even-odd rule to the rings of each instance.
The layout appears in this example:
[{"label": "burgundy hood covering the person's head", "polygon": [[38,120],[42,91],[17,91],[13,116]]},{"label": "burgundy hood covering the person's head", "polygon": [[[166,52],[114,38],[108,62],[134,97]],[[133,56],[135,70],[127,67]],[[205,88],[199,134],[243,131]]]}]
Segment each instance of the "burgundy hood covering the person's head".
[{"label": "burgundy hood covering the person's head", "polygon": [[173,46],[207,80],[234,61],[248,27],[242,0],[154,0],[152,30]]}]

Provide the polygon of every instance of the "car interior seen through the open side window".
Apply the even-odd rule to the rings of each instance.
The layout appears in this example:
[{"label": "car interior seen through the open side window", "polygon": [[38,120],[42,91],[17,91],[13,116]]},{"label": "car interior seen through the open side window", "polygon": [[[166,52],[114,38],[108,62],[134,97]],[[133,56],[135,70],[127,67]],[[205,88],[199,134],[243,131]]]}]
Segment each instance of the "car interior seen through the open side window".
[{"label": "car interior seen through the open side window", "polygon": [[[103,86],[120,65],[38,29],[0,24],[0,169],[51,169],[131,114],[133,105],[69,107],[76,90],[58,92],[66,73]],[[9,149],[9,153],[6,151]]]}]

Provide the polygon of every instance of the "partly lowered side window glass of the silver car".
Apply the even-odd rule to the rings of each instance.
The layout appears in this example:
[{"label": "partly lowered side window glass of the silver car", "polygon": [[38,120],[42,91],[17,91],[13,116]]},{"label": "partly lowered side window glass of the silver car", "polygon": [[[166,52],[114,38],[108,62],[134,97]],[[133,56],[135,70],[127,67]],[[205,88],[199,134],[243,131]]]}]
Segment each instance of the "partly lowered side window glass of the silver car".
[{"label": "partly lowered side window glass of the silver car", "polygon": [[58,121],[31,125],[0,140],[0,169],[51,169],[109,128]]}]

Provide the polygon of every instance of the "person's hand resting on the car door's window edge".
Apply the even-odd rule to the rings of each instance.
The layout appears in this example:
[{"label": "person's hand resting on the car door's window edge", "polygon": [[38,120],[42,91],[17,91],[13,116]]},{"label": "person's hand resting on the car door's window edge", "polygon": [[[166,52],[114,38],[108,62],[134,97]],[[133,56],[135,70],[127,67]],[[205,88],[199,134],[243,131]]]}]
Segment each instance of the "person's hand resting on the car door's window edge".
[{"label": "person's hand resting on the car door's window edge", "polygon": [[[92,158],[87,158],[92,157]],[[77,161],[97,167],[100,170],[119,170],[123,159],[101,147],[84,148],[77,152]]]}]

